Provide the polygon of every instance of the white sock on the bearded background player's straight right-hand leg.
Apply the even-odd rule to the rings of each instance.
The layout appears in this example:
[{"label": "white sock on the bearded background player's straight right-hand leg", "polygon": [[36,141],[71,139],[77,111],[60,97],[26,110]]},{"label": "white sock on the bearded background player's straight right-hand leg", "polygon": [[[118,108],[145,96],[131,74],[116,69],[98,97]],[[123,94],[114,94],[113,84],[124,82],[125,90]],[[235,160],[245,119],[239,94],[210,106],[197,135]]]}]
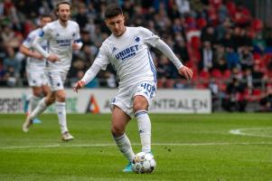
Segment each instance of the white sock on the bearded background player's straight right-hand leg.
[{"label": "white sock on the bearded background player's straight right-hand leg", "polygon": [[65,108],[65,102],[58,102],[56,101],[56,112],[59,119],[59,124],[61,126],[61,134],[68,131],[67,129],[67,121],[66,121],[66,108]]}]

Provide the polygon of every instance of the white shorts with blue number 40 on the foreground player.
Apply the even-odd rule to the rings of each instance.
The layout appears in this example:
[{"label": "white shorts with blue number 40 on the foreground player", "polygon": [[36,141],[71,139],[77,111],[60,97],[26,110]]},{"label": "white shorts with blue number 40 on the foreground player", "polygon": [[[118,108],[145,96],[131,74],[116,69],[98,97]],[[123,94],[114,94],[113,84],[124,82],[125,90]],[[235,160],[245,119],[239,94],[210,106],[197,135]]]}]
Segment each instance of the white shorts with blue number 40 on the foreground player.
[{"label": "white shorts with blue number 40 on the foreground player", "polygon": [[151,104],[156,93],[156,84],[154,81],[142,81],[135,86],[124,87],[118,90],[117,96],[111,102],[111,108],[116,105],[121,110],[124,110],[128,116],[134,117],[133,100],[137,95],[144,96]]}]

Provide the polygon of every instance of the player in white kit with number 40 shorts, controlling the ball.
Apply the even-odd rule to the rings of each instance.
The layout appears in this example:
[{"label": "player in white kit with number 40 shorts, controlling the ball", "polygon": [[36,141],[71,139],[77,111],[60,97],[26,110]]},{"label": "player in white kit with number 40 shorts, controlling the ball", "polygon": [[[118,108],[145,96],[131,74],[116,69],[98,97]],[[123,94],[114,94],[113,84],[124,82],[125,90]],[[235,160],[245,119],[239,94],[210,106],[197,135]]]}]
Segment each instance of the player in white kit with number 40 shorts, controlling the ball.
[{"label": "player in white kit with number 40 shorts, controlling the ball", "polygon": [[129,120],[137,119],[142,151],[151,152],[151,123],[147,114],[148,106],[155,96],[155,66],[147,45],[151,45],[174,63],[181,75],[192,78],[192,71],[183,66],[174,52],[158,36],[143,27],[125,26],[122,10],[117,5],[109,5],[105,10],[105,23],[111,35],[102,43],[98,56],[84,77],[74,87],[78,91],[91,81],[101,69],[111,63],[117,71],[119,87],[112,102],[111,132],[117,147],[129,164],[124,172],[131,172],[131,162],[135,154],[131,148],[125,129]]}]

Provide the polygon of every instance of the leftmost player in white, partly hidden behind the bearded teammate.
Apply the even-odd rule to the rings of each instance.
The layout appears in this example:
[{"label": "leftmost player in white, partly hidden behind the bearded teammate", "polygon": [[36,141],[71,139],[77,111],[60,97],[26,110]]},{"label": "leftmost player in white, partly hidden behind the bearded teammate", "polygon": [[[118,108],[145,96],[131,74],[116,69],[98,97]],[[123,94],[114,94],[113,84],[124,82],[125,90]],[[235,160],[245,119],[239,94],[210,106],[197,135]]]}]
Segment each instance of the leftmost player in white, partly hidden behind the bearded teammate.
[{"label": "leftmost player in white, partly hidden behind the bearded teammate", "polygon": [[[50,22],[52,22],[51,15],[41,15],[40,27],[29,33],[20,46],[20,52],[28,56],[26,62],[27,81],[33,91],[33,95],[29,100],[27,115],[36,108],[41,98],[46,96],[50,91],[43,70],[45,59],[40,52],[35,51],[32,47],[34,38],[42,31],[42,27]],[[43,41],[41,45],[44,50],[47,49],[46,41]]]}]

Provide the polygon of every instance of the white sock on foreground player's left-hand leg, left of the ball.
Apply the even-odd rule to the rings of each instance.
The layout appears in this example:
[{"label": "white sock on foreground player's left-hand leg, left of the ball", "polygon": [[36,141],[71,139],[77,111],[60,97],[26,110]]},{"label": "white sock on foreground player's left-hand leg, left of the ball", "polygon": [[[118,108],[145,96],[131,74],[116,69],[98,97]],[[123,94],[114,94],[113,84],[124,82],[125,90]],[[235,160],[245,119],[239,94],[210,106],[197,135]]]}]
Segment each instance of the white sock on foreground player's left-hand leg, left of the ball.
[{"label": "white sock on foreground player's left-hand leg, left of the ball", "polygon": [[127,157],[127,160],[132,162],[135,157],[135,154],[131,148],[131,144],[126,134],[123,134],[119,137],[113,136],[115,142],[117,143],[117,147],[122,152],[122,154]]}]

